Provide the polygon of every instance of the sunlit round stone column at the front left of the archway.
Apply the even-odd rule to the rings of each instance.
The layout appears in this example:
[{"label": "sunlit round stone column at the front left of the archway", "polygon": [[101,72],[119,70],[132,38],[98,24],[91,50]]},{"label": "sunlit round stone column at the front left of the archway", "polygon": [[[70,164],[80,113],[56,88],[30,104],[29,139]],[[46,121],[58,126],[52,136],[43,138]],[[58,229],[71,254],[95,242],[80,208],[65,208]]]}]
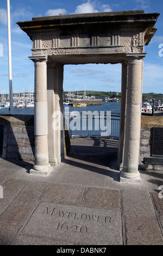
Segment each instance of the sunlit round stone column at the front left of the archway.
[{"label": "sunlit round stone column at the front left of the archway", "polygon": [[30,174],[48,175],[47,58],[31,57],[35,64],[35,163]]}]

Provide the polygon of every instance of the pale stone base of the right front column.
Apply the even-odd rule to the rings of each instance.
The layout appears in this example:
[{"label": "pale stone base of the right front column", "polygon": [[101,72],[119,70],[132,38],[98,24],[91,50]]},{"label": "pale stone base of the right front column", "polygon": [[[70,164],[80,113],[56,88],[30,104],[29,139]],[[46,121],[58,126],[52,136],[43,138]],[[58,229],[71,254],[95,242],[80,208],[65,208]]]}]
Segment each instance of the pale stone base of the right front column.
[{"label": "pale stone base of the right front column", "polygon": [[141,183],[140,173],[124,173],[123,170],[120,172],[120,182],[127,182],[127,183]]}]

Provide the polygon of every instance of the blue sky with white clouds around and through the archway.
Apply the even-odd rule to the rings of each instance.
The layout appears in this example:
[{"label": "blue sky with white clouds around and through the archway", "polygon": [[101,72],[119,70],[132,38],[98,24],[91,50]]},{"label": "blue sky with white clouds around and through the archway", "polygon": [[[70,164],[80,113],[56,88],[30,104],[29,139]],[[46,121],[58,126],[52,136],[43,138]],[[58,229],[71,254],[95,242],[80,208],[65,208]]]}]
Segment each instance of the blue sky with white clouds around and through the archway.
[{"label": "blue sky with white clouds around and through the archway", "polygon": [[[32,41],[21,31],[17,21],[33,17],[62,14],[95,13],[101,11],[145,10],[160,13],[152,41],[145,46],[143,93],[163,93],[163,1],[161,0],[10,0],[11,53],[13,92],[34,90],[34,63]],[[162,45],[161,45],[162,44]],[[161,48],[159,48],[159,46]],[[159,54],[160,51],[160,54]],[[0,93],[9,92],[8,78],[7,0],[0,3]],[[65,65],[64,90],[104,90],[121,92],[121,64]]]}]

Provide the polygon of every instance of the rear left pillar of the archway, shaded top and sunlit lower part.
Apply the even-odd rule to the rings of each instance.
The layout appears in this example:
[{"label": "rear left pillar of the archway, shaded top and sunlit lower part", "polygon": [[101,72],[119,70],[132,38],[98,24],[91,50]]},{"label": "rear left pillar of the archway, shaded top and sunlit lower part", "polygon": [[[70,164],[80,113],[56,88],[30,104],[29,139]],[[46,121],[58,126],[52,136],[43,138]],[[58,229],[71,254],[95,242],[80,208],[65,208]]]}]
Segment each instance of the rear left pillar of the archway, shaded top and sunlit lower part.
[{"label": "rear left pillar of the archway, shaded top and sunlit lower part", "polygon": [[60,63],[47,64],[48,149],[54,166],[64,159],[63,71]]}]

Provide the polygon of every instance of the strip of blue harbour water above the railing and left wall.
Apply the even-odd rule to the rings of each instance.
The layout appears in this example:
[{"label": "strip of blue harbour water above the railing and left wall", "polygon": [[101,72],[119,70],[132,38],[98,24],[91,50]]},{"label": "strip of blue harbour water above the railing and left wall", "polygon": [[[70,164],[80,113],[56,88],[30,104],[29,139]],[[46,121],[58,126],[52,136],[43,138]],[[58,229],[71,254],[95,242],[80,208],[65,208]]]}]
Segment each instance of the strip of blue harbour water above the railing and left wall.
[{"label": "strip of blue harbour water above the railing and left wall", "polygon": [[[64,105],[64,107],[68,107],[69,112],[72,111],[111,111],[111,114],[120,113],[121,111],[121,103],[120,102],[102,102],[102,105],[91,105],[86,107],[73,107]],[[67,109],[66,109],[67,110]],[[0,109],[1,114],[9,114],[9,108],[2,107]],[[34,114],[34,108],[14,108],[14,114]]]}]

